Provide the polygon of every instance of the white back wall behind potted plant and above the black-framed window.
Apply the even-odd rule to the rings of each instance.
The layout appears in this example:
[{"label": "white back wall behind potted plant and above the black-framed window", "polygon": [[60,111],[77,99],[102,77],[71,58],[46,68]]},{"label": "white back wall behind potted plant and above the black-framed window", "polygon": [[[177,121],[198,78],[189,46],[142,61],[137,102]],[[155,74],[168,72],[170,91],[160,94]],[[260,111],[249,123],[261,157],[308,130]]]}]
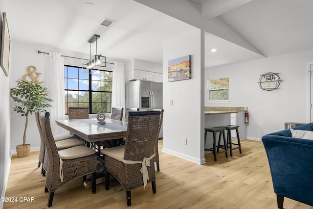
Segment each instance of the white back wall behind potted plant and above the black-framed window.
[{"label": "white back wall behind potted plant and above the black-framed window", "polygon": [[[44,81],[43,85],[45,86],[45,54],[38,54],[37,51],[41,52],[61,52],[66,56],[86,58],[89,57],[89,54],[81,54],[67,51],[60,51],[53,47],[44,46],[44,45],[31,45],[20,42],[12,42],[11,44],[11,69],[10,69],[10,87],[15,87],[15,81],[21,79],[24,74],[27,73],[27,67],[33,65],[37,68],[38,73],[42,73],[38,80]],[[125,60],[116,60],[107,58],[107,62],[125,62]],[[67,65],[73,66],[82,66],[83,60],[73,59],[64,57],[64,63]],[[112,70],[112,64],[107,64],[106,69]],[[127,71],[127,66],[125,71]],[[53,91],[53,89],[48,89]],[[11,101],[8,99],[8,101]],[[10,150],[12,153],[16,153],[15,146],[22,144],[23,137],[23,127],[25,124],[25,117],[21,117],[20,114],[13,111],[13,102],[7,113],[11,114],[11,127],[14,129],[11,130],[11,143]],[[39,150],[40,147],[40,138],[38,129],[36,126],[36,121],[34,115],[30,115],[28,119],[28,126],[26,131],[26,143],[31,144],[31,151]]]}]

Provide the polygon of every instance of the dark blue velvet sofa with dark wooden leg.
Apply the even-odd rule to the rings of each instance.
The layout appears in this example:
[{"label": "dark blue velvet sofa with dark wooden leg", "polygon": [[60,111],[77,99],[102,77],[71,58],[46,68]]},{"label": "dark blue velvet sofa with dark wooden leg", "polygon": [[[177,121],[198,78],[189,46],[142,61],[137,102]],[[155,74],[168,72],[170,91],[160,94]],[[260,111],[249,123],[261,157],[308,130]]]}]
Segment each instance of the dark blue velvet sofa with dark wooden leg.
[{"label": "dark blue velvet sofa with dark wooden leg", "polygon": [[[313,123],[294,130],[313,131]],[[290,129],[262,137],[277,205],[283,208],[284,197],[313,206],[313,140],[292,138]]]}]

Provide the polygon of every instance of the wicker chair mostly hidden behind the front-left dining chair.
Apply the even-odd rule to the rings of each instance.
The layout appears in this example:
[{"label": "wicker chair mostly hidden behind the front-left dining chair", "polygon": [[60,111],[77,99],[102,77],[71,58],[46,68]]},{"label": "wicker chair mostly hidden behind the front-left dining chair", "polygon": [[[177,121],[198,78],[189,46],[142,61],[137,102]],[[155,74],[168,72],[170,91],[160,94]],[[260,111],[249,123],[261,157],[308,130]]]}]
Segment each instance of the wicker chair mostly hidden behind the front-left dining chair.
[{"label": "wicker chair mostly hidden behind the front-left dining chair", "polygon": [[[40,122],[39,122],[39,113],[45,110],[43,109],[36,109],[35,110],[35,119],[36,119],[36,124],[37,124],[37,128],[39,131],[39,136],[40,136],[40,148],[39,148],[39,157],[38,157],[38,167],[40,167],[40,164],[42,164],[42,169],[41,169],[41,173],[43,176],[45,176],[45,171],[47,170],[47,165],[45,164],[45,157],[47,157],[45,155],[45,140],[43,137],[43,131],[41,129],[40,126]],[[79,145],[84,145],[85,142],[75,139],[74,136],[70,133],[66,133],[66,134],[59,134],[59,135],[53,135],[54,141],[56,143],[57,149],[66,149],[69,147],[74,147],[74,146],[79,146]],[[46,159],[46,162],[48,162],[48,160]]]}]

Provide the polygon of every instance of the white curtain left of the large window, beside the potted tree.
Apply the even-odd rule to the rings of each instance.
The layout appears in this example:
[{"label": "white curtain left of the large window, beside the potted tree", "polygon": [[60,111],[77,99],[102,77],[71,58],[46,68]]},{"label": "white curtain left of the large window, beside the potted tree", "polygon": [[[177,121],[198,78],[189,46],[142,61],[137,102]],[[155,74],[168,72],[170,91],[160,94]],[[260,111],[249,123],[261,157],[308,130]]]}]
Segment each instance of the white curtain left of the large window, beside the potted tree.
[{"label": "white curtain left of the large window, beside the potted tree", "polygon": [[53,135],[67,131],[56,125],[55,120],[65,119],[64,99],[64,60],[61,53],[49,52],[45,54],[45,87],[49,91],[49,98],[53,100],[50,112],[50,124]]}]

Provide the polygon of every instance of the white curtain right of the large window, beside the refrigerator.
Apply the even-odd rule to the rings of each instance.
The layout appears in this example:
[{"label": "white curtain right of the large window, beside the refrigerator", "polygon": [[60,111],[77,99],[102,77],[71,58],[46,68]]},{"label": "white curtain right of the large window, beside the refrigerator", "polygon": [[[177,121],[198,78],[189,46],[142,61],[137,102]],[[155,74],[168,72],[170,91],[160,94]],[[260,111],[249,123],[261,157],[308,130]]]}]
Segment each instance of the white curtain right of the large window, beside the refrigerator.
[{"label": "white curtain right of the large window, beside the refrigerator", "polygon": [[124,63],[114,62],[112,79],[112,107],[125,109],[125,72]]}]

